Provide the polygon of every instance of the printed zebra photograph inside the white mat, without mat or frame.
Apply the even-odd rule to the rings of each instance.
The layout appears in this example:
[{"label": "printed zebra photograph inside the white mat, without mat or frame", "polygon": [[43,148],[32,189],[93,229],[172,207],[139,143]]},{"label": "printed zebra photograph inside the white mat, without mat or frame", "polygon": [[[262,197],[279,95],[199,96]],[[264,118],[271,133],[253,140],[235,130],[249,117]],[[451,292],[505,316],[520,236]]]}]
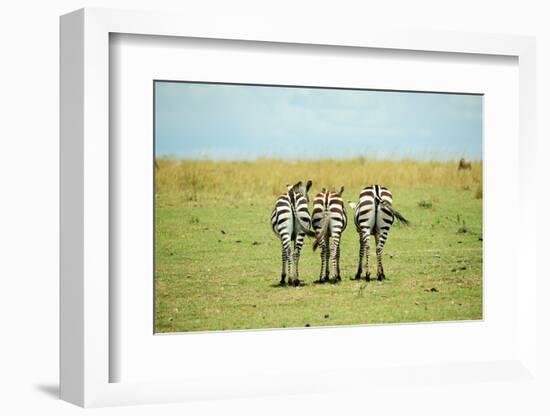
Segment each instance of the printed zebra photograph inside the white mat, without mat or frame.
[{"label": "printed zebra photograph inside the white mat, without mat or frame", "polygon": [[155,332],[483,318],[482,95],[153,88]]}]

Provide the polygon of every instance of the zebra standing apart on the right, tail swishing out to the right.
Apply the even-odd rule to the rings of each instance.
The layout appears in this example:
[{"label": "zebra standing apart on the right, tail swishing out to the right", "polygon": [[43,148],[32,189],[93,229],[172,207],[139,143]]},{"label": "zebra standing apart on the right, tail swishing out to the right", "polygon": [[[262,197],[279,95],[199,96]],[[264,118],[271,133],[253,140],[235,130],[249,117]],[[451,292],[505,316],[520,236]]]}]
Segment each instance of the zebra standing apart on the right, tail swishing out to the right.
[{"label": "zebra standing apart on the right, tail swishing out to the right", "polygon": [[393,209],[391,191],[380,185],[371,185],[364,188],[359,194],[359,204],[348,201],[350,207],[355,211],[355,227],[359,233],[359,266],[355,274],[356,280],[361,280],[363,271],[363,256],[366,257],[365,278],[370,281],[369,272],[369,237],[374,235],[376,241],[376,275],[379,281],[386,278],[382,266],[382,250],[388,239],[388,233],[395,218],[409,224],[399,212]]}]

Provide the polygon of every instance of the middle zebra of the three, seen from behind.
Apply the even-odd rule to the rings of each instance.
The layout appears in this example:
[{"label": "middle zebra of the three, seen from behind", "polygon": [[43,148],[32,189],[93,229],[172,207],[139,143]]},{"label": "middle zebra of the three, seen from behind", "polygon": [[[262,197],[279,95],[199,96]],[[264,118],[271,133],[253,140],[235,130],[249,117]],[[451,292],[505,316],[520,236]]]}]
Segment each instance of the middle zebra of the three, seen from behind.
[{"label": "middle zebra of the three, seen from behind", "polygon": [[[313,200],[312,225],[316,234],[313,250],[321,247],[319,283],[328,282],[330,278],[334,283],[342,280],[340,238],[348,222],[342,192],[344,192],[343,186],[339,192],[330,192],[323,188]],[[331,269],[332,273],[330,273]]]}]

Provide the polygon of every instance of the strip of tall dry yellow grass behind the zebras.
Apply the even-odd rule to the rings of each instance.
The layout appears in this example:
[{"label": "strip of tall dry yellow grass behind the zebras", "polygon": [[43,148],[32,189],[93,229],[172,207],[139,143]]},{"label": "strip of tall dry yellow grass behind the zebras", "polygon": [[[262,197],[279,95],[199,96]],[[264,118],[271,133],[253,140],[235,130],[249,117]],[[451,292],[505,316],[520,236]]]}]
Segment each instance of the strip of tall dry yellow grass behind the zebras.
[{"label": "strip of tall dry yellow grass behind the zebras", "polygon": [[[457,170],[457,162],[412,160],[324,160],[289,162],[260,159],[255,162],[158,160],[156,191],[159,194],[185,194],[224,200],[262,200],[275,197],[294,180],[312,179],[316,186],[348,190],[379,183],[390,189],[447,188],[477,190],[481,196],[482,166]],[[247,177],[242,178],[243,172]],[[178,198],[179,199],[179,198]]]}]

